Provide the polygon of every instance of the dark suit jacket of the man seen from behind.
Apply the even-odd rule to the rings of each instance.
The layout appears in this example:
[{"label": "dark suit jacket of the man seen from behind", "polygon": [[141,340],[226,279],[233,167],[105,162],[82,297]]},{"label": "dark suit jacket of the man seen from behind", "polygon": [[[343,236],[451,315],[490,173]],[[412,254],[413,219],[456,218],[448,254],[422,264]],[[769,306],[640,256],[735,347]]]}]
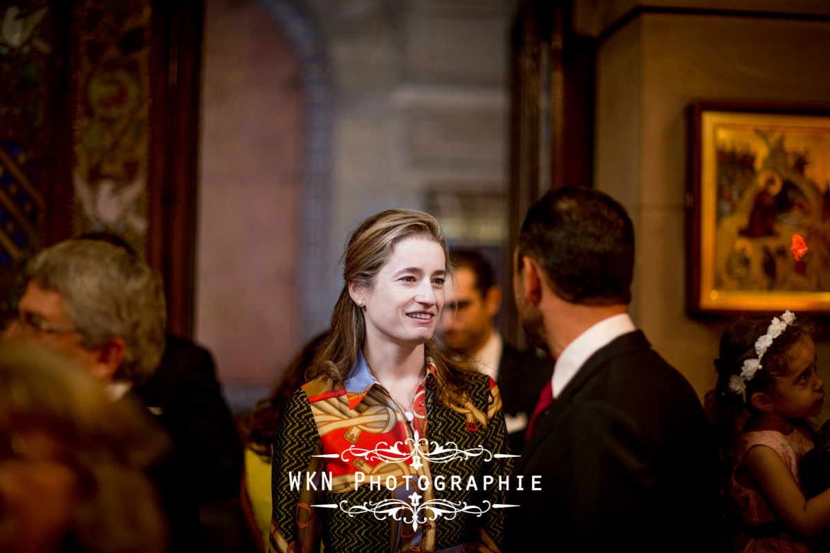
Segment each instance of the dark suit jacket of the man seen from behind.
[{"label": "dark suit jacket of the man seen from behind", "polygon": [[514,477],[506,551],[716,551],[715,468],[694,390],[630,332],[536,422],[516,459],[524,489]]}]

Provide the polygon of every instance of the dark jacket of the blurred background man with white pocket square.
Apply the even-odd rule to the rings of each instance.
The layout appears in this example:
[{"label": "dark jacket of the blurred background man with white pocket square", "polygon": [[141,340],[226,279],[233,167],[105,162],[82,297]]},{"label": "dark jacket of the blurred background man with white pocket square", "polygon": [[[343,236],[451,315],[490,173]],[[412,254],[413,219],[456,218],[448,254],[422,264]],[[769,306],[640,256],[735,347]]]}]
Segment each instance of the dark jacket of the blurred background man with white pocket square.
[{"label": "dark jacket of the blurred background man with white pocket square", "polygon": [[[508,346],[501,351],[499,361],[499,375],[496,384],[501,394],[501,410],[505,418],[521,416],[522,413],[530,420],[536,403],[539,401],[539,392],[545,382],[550,381],[554,371],[554,361],[541,359],[530,352],[520,352]],[[508,435],[510,449],[518,453],[525,444],[525,429]]]}]

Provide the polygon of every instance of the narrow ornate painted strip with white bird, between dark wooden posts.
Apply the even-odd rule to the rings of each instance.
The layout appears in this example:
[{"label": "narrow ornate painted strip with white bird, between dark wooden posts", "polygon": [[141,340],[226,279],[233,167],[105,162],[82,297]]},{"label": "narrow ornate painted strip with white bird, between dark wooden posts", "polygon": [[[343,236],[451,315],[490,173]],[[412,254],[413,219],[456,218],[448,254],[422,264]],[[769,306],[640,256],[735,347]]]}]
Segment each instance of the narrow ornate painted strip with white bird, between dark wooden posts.
[{"label": "narrow ornate painted strip with white bird, between dark wooden posts", "polygon": [[76,7],[73,230],[116,232],[138,250],[149,227],[151,14],[150,0]]}]

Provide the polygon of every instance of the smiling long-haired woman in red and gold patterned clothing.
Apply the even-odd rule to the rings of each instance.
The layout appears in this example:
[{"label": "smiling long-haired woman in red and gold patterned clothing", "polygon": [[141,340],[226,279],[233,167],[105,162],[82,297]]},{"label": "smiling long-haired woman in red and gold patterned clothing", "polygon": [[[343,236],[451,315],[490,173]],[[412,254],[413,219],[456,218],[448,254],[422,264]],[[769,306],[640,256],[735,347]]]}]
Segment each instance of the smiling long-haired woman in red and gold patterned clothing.
[{"label": "smiling long-haired woman in red and gold patterned clothing", "polygon": [[504,493],[432,486],[509,473],[495,383],[433,337],[447,244],[387,210],[349,239],[329,337],[276,431],[275,551],[497,551]]}]

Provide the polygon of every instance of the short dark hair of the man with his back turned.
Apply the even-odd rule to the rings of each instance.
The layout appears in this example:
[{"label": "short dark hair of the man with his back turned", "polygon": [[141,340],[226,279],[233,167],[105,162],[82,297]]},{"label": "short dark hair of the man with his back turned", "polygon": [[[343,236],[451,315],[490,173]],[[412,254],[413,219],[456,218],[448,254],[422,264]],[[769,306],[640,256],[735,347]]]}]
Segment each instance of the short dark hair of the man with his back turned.
[{"label": "short dark hair of the man with his back turned", "polygon": [[634,227],[625,208],[603,192],[565,187],[542,196],[521,227],[519,255],[540,264],[559,298],[631,303]]}]

